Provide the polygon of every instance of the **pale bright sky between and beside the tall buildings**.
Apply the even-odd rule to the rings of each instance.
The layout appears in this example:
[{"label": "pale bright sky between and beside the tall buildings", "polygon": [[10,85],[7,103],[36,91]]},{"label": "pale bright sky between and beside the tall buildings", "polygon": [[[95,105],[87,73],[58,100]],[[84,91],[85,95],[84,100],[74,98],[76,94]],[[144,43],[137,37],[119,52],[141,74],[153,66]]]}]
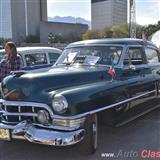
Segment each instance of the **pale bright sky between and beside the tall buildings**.
[{"label": "pale bright sky between and beside the tall buildings", "polygon": [[[48,16],[73,16],[91,20],[91,0],[48,0]],[[136,0],[136,22],[155,24],[160,20],[160,0]]]}]

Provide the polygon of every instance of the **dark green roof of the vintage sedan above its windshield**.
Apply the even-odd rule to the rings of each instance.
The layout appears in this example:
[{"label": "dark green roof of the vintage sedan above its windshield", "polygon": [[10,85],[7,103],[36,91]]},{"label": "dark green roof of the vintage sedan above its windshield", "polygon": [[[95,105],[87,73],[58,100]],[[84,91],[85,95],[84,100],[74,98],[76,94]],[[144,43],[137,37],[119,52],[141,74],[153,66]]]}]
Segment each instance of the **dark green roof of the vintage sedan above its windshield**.
[{"label": "dark green roof of the vintage sedan above its windshield", "polygon": [[[67,46],[67,48],[70,47],[76,47],[81,45],[95,45],[95,44],[114,44],[114,45],[150,45],[153,47],[156,47],[152,42],[142,40],[142,39],[134,39],[134,38],[107,38],[107,39],[93,39],[93,40],[84,40],[79,42],[71,43]],[[157,48],[157,47],[156,47]]]}]

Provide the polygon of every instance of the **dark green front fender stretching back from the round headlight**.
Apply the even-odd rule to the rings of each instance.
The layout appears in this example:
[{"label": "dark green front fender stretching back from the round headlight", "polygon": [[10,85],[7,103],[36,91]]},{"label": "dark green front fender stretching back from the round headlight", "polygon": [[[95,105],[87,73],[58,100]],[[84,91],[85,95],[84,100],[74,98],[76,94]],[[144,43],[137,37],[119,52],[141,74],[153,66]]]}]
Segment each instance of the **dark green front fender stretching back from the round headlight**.
[{"label": "dark green front fender stretching back from the round headlight", "polygon": [[63,95],[68,101],[69,108],[64,116],[75,116],[87,112],[96,113],[96,110],[117,103],[117,98],[124,92],[123,82],[103,81],[59,90],[56,94]]}]

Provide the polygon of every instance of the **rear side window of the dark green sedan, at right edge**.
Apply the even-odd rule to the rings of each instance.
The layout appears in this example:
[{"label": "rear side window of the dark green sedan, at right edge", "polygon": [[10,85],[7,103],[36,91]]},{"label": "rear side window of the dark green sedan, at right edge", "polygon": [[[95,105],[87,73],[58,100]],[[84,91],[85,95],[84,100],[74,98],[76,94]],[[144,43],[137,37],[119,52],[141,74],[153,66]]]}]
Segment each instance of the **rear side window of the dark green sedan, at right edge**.
[{"label": "rear side window of the dark green sedan, at right edge", "polygon": [[147,61],[149,64],[159,63],[158,52],[152,48],[145,48]]}]

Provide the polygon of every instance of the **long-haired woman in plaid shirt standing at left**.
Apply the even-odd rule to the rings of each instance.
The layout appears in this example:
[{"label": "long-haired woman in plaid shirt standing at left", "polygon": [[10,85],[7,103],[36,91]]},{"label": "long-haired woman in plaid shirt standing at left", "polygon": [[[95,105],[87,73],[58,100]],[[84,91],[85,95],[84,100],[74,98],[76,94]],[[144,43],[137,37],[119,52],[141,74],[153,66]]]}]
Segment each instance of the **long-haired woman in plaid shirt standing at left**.
[{"label": "long-haired woman in plaid shirt standing at left", "polygon": [[4,48],[6,54],[0,62],[0,81],[11,71],[20,70],[22,67],[22,59],[17,53],[14,42],[7,42]]}]

